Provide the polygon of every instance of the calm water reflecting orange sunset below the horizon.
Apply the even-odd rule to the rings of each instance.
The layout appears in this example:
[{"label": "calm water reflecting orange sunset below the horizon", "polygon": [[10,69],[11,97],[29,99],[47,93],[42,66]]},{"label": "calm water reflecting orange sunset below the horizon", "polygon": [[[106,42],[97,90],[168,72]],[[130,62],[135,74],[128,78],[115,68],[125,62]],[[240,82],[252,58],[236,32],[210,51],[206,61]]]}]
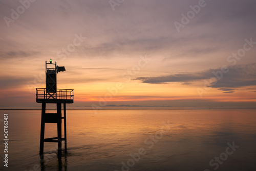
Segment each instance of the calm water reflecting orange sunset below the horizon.
[{"label": "calm water reflecting orange sunset below the horizon", "polygon": [[[256,170],[256,110],[67,110],[68,153],[58,158],[57,143],[45,142],[44,160],[40,110],[4,112],[0,170]],[[45,138],[56,127],[46,124]]]}]

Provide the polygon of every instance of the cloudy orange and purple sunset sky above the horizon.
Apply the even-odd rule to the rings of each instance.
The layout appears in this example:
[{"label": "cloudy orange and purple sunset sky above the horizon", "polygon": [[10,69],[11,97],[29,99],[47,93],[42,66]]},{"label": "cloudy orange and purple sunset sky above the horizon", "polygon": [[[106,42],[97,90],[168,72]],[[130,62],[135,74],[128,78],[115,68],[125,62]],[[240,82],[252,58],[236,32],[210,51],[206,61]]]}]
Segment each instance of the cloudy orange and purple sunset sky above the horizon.
[{"label": "cloudy orange and purple sunset sky above the horizon", "polygon": [[39,107],[45,61],[71,107],[256,106],[255,1],[0,0],[0,108]]}]

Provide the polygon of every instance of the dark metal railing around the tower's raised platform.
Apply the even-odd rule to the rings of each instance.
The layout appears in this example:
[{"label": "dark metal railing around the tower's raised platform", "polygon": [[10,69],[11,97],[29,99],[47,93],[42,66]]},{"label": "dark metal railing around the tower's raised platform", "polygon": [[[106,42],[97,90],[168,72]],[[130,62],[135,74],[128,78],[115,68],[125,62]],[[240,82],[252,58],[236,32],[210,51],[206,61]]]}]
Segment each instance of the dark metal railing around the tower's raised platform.
[{"label": "dark metal railing around the tower's raised platform", "polygon": [[48,92],[46,88],[36,88],[36,99],[73,100],[74,89],[56,89],[56,92]]}]

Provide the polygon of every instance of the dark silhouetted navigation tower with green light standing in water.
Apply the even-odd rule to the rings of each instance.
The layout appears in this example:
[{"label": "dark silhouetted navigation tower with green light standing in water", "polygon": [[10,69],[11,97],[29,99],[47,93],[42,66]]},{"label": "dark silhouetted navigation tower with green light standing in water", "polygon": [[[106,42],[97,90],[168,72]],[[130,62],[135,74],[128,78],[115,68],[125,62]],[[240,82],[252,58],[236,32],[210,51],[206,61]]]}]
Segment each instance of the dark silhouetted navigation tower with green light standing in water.
[{"label": "dark silhouetted navigation tower with green light standing in water", "polygon": [[[41,108],[41,134],[39,154],[44,154],[44,142],[57,142],[58,155],[61,155],[61,142],[65,141],[65,152],[67,152],[67,127],[66,127],[66,103],[73,103],[73,89],[57,89],[57,73],[65,71],[64,66],[57,66],[56,62],[46,61],[46,88],[36,88],[36,102],[42,104]],[[46,104],[55,103],[57,113],[46,113]],[[63,116],[61,113],[63,104]],[[61,123],[64,121],[64,138],[61,136]],[[45,138],[45,124],[57,124],[57,137]]]}]

